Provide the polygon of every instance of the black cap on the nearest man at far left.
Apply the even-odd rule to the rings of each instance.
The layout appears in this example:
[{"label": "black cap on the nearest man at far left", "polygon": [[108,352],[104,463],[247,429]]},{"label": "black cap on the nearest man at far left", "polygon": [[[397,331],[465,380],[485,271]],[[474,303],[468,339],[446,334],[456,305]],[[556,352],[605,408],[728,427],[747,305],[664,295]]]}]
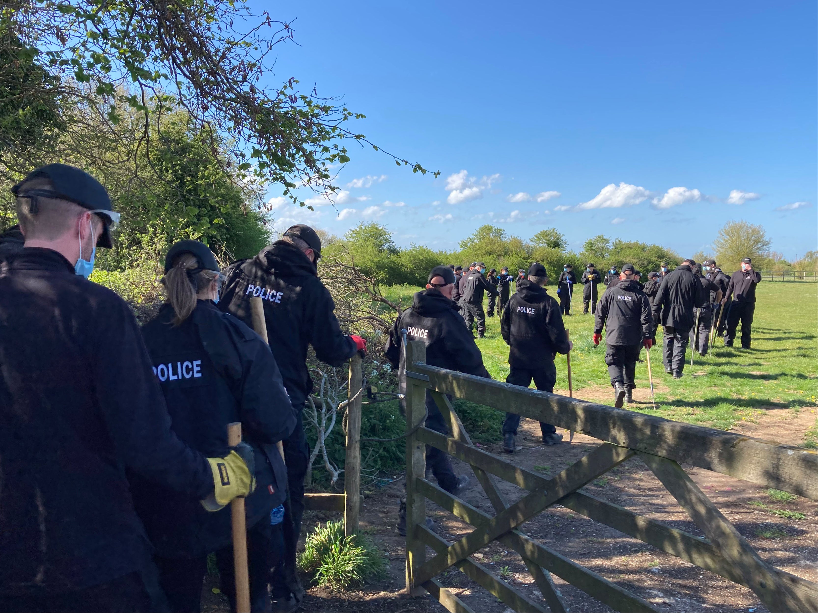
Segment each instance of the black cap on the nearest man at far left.
[{"label": "black cap on the nearest man at far left", "polygon": [[[29,172],[25,179],[11,188],[11,193],[15,196],[22,196],[23,194],[19,193],[20,186],[26,181],[39,177],[46,178],[52,183],[52,190],[50,190],[52,193],[48,194],[47,197],[68,200],[74,204],[79,204],[81,207],[88,208],[89,211],[99,210],[110,211],[111,213],[114,211],[110,205],[108,192],[102,184],[89,175],[88,172],[67,164],[48,164]],[[45,195],[43,194],[43,196]],[[97,246],[110,249],[108,224],[103,224],[103,226],[102,234],[97,239]]]}]

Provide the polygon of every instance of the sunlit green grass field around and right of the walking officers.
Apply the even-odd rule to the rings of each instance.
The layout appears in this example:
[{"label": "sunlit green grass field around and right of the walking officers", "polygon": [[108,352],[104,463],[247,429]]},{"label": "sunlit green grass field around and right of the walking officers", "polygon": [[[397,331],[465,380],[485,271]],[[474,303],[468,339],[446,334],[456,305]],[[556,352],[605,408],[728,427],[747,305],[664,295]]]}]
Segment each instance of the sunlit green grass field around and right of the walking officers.
[{"label": "sunlit green grass field around and right of the walking officers", "polygon": [[[411,304],[417,288],[385,288],[390,299]],[[548,292],[555,294],[555,288]],[[685,376],[674,380],[664,373],[662,338],[651,350],[651,365],[656,387],[656,409],[637,405],[637,410],[665,418],[703,426],[730,428],[734,423],[752,419],[762,409],[815,407],[818,395],[818,284],[764,282],[757,288],[757,307],[753,322],[753,349],[726,348],[717,339],[708,356],[696,354],[690,368],[687,351]],[[591,341],[592,315],[582,315],[582,299],[574,298],[574,315],[564,317],[574,348],[571,352],[574,396],[582,398],[582,389],[594,388],[593,400],[613,405],[613,395],[601,395],[609,387],[605,365],[605,338],[599,347]],[[487,320],[487,338],[478,339],[483,362],[493,378],[505,380],[509,372],[508,347],[500,335],[495,316]],[[738,344],[738,342],[736,342]],[[645,360],[645,351],[642,352]],[[568,389],[565,356],[557,356],[557,385]],[[691,376],[694,374],[694,376]],[[599,387],[602,386],[602,387]],[[649,387],[647,363],[636,365],[636,386]]]}]

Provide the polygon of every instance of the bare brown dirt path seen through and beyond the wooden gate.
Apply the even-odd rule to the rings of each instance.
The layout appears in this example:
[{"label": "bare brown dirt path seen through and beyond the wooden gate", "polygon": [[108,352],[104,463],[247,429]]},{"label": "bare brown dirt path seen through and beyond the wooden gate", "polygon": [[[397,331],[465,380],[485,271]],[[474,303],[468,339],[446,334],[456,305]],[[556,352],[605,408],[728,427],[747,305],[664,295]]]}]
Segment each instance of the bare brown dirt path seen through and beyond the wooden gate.
[{"label": "bare brown dirt path seen through and beyond the wooden gate", "polygon": [[[636,398],[647,400],[641,399],[638,394]],[[735,431],[798,444],[803,440],[807,427],[815,423],[815,416],[816,409],[811,408],[798,411],[770,409],[759,415],[755,423],[741,423],[735,427]],[[483,445],[483,449],[506,459],[511,457],[519,466],[548,477],[588,454],[600,441],[577,434],[570,445],[563,443],[545,447],[539,440],[537,423],[524,419],[518,444],[523,449],[514,456],[502,454],[501,445]],[[468,465],[455,463],[456,472],[471,475]],[[767,562],[794,575],[816,580],[816,503],[802,498],[789,502],[776,501],[760,486],[690,466],[685,466],[685,470]],[[496,482],[510,501],[524,494],[505,481],[497,479]],[[362,530],[371,535],[384,555],[389,557],[389,575],[344,593],[312,588],[303,602],[303,611],[445,611],[428,595],[411,598],[403,593],[405,542],[394,530],[403,488],[404,480],[399,478],[380,490],[366,490],[371,493],[365,493],[362,497]],[[669,526],[701,535],[676,500],[639,459],[622,463],[584,490],[633,512],[666,522]],[[488,498],[473,476],[470,487],[462,497],[475,507],[493,513]],[[453,541],[471,530],[470,526],[434,503],[427,504],[435,530],[443,538]],[[780,517],[774,511],[803,513],[805,518]],[[312,530],[317,522],[330,519],[337,519],[337,514],[308,512],[304,517],[304,530]],[[748,588],[701,570],[559,505],[528,521],[524,531],[575,562],[645,598],[658,611],[766,611]],[[431,550],[428,553],[432,555]],[[494,570],[497,575],[503,575],[510,584],[536,602],[542,602],[542,594],[516,553],[492,544],[476,553],[474,560]],[[438,579],[446,587],[452,588],[474,611],[510,611],[459,570],[450,569],[446,575],[438,575]],[[570,611],[610,611],[559,577],[555,576],[554,579]],[[205,610],[226,610],[220,601],[222,597],[210,593],[211,587],[205,586],[209,601]],[[547,609],[545,602],[543,606]]]}]

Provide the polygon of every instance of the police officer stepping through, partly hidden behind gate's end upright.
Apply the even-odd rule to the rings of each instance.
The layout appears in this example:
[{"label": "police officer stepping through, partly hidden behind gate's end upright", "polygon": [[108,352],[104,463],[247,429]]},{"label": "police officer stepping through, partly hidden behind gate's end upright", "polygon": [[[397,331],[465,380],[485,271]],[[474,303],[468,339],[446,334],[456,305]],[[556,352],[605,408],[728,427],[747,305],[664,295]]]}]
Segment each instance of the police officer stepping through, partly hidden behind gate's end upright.
[{"label": "police officer stepping through, partly hidden behind gate's end upright", "polygon": [[[490,378],[486,367],[483,366],[483,354],[463,325],[463,318],[452,305],[454,282],[452,271],[446,266],[435,266],[429,272],[425,291],[416,293],[411,307],[395,320],[389,331],[384,354],[393,368],[398,369],[398,373],[406,372],[401,333],[402,329],[406,329],[407,340],[422,341],[425,344],[426,364]],[[400,391],[405,392],[405,376],[402,375],[399,380]],[[426,410],[429,416],[426,418],[425,426],[435,432],[447,434],[443,415],[428,391]],[[438,485],[452,494],[458,495],[469,482],[465,475],[457,477],[448,455],[431,445],[426,445],[426,465],[431,468]],[[401,501],[398,534],[406,535],[406,499]]]}]

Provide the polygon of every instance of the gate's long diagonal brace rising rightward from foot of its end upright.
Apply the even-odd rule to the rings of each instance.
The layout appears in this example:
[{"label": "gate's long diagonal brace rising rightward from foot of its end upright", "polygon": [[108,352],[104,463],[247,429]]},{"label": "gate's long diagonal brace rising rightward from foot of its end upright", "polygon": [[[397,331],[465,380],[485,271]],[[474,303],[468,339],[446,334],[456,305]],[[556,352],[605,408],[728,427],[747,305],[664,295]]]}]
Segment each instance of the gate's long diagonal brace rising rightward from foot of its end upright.
[{"label": "gate's long diagonal brace rising rightward from foot of its end upright", "polygon": [[624,447],[603,443],[591,454],[573,463],[551,479],[548,483],[550,491],[546,492],[544,489],[534,490],[509,508],[497,513],[485,526],[475,528],[473,532],[452,544],[445,552],[438,553],[431,560],[421,565],[415,572],[415,584],[423,584],[449,566],[460,562],[465,557],[469,557],[479,548],[515,529],[565,495],[587,485],[596,477],[624,462],[633,454],[633,451]]}]

